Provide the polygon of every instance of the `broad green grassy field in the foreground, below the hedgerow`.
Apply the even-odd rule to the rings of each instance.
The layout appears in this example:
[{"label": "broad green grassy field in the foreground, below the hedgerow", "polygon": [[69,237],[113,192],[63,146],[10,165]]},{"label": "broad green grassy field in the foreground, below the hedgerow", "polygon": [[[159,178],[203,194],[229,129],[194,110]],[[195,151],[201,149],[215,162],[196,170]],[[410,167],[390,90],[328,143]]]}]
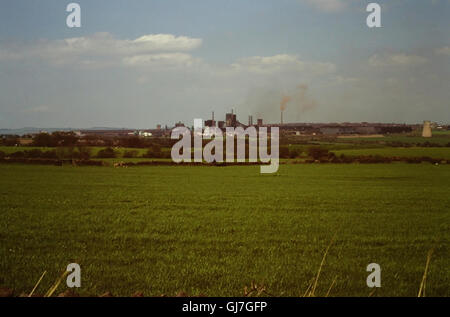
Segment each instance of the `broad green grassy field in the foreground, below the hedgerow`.
[{"label": "broad green grassy field in the foreground, below the hedgerow", "polygon": [[[450,295],[450,166],[0,165],[0,286],[44,293],[81,265],[82,295],[242,296],[252,281],[302,296]],[[60,286],[58,292],[63,291]]]}]

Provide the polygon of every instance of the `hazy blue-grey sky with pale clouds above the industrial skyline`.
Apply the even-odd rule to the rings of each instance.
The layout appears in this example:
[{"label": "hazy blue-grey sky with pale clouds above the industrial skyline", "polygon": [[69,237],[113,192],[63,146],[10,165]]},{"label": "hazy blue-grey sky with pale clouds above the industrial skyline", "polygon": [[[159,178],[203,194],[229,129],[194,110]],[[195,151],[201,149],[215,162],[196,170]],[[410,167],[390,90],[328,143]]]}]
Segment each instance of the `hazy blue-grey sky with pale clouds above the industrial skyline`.
[{"label": "hazy blue-grey sky with pale clouds above the industrial skyline", "polygon": [[450,0],[1,0],[0,128],[450,123]]}]

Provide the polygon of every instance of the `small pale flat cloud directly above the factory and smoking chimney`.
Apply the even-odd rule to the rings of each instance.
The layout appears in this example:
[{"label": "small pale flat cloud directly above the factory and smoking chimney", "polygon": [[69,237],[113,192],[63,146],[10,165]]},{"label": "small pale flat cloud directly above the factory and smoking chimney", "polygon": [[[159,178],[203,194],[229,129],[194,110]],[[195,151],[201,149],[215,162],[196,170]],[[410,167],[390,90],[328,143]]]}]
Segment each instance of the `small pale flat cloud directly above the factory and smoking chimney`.
[{"label": "small pale flat cloud directly above the factory and smoking chimney", "polygon": [[336,67],[332,63],[307,62],[296,55],[253,56],[242,58],[231,67],[236,71],[255,73],[305,72],[321,75],[332,73]]}]

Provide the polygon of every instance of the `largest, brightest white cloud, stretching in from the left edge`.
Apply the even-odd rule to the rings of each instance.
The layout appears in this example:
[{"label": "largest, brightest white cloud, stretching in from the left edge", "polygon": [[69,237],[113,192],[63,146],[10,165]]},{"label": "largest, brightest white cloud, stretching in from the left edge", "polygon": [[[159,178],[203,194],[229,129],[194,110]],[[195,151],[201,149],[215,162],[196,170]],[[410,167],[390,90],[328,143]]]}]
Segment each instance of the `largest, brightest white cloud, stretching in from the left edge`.
[{"label": "largest, brightest white cloud, stretching in from the left edge", "polygon": [[121,40],[109,33],[95,33],[85,37],[39,41],[26,47],[7,47],[0,50],[0,60],[39,58],[56,65],[90,67],[118,64],[122,60],[128,64],[136,64],[139,59],[167,62],[171,57],[186,59],[189,55],[180,52],[191,51],[201,44],[201,39],[172,34],[149,34],[134,40]]}]

